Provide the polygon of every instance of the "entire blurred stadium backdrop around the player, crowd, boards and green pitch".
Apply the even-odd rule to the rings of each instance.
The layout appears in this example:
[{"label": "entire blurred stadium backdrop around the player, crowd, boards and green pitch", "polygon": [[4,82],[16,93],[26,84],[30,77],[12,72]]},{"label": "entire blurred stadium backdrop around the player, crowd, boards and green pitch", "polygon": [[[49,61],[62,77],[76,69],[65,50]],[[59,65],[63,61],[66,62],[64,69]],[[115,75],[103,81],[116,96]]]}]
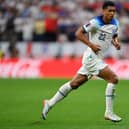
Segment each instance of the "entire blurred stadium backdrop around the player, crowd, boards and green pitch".
[{"label": "entire blurred stadium backdrop around the player, crowd, boards and green pitch", "polygon": [[86,46],[74,32],[101,12],[102,1],[0,0],[0,129],[129,128],[128,0],[116,0],[122,50],[111,46],[105,54],[121,78],[114,106],[123,121],[104,120],[106,82],[99,79],[72,92],[46,121],[40,118],[43,99],[54,95],[81,65]]}]

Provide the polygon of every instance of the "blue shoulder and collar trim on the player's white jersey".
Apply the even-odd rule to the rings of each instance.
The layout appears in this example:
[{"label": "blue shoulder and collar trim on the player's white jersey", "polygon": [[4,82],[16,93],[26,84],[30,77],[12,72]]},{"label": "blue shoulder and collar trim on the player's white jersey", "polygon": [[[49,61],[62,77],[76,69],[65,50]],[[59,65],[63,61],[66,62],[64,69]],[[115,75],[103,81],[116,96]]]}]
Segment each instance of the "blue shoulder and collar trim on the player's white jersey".
[{"label": "blue shoulder and collar trim on the player's white jersey", "polygon": [[103,26],[103,25],[108,25],[108,24],[112,24],[112,25],[116,25],[116,26],[119,25],[118,20],[115,19],[115,18],[113,18],[108,24],[107,24],[107,23],[104,23],[104,21],[103,21],[103,16],[102,16],[102,15],[101,15],[101,16],[97,16],[97,17],[95,17],[94,19],[97,21],[97,23],[98,23],[98,25],[99,25],[100,27]]}]

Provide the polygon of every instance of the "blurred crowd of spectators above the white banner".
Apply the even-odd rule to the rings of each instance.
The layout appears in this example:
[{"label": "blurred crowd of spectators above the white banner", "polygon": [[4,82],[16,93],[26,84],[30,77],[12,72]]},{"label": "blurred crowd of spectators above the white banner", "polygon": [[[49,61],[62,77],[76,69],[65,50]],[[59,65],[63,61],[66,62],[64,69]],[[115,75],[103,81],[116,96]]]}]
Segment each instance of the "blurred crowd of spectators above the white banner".
[{"label": "blurred crowd of spectators above the white banner", "polygon": [[[0,41],[74,42],[75,31],[101,13],[103,0],[0,0]],[[129,43],[129,1],[116,0],[120,38]]]}]

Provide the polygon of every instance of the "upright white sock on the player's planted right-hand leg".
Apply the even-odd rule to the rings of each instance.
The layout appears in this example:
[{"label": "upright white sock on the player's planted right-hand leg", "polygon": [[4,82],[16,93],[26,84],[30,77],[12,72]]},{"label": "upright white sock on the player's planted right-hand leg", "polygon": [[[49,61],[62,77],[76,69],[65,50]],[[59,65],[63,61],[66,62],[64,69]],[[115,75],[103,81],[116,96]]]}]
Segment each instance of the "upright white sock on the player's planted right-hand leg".
[{"label": "upright white sock on the player's planted right-hand leg", "polygon": [[105,91],[106,95],[106,111],[108,113],[113,113],[113,99],[114,99],[115,85],[113,83],[108,83]]}]

